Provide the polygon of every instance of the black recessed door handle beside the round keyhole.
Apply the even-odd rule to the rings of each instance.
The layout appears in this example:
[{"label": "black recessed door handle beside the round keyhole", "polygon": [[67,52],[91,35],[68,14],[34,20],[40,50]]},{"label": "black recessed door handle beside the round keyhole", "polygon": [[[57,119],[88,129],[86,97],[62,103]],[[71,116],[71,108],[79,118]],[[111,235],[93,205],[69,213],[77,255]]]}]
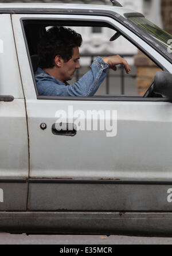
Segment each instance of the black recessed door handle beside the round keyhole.
[{"label": "black recessed door handle beside the round keyhole", "polygon": [[75,136],[76,132],[76,125],[73,123],[53,123],[52,125],[54,135]]}]

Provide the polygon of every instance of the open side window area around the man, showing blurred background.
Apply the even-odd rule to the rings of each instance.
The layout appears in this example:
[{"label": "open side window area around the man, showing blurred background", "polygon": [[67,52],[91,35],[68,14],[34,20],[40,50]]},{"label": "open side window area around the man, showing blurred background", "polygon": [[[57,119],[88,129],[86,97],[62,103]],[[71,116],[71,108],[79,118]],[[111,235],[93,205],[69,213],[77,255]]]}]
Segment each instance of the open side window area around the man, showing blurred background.
[{"label": "open side window area around the man, showing blurred background", "polygon": [[[35,21],[34,21],[35,22]],[[32,61],[34,73],[38,68],[37,45],[42,31],[47,31],[53,26],[61,26],[57,23],[25,25],[26,40],[28,41],[29,55]],[[80,69],[77,69],[69,84],[76,83],[88,70],[96,56],[105,57],[120,55],[128,61],[131,67],[129,75],[124,71],[123,65],[118,65],[117,71],[109,70],[104,82],[97,90],[95,96],[132,95],[143,96],[154,80],[154,75],[161,69],[146,55],[139,51],[130,41],[120,36],[115,41],[110,41],[116,30],[104,24],[88,26],[64,25],[74,29],[83,37],[83,45],[80,47]],[[34,33],[34,36],[33,36]],[[38,95],[39,96],[39,95]]]}]

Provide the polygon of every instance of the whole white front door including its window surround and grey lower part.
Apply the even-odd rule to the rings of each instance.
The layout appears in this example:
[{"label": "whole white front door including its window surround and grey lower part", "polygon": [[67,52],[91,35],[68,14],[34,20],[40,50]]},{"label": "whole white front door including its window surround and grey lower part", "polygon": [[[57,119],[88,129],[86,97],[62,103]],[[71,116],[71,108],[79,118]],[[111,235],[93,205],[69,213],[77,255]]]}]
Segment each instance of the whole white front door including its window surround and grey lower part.
[{"label": "whole white front door including its window surround and grey lower part", "polygon": [[[123,31],[151,58],[158,59],[162,68],[171,72],[171,64],[110,17],[15,14],[12,18],[28,116],[29,210],[171,210],[171,204],[167,201],[167,181],[172,177],[171,103],[163,99],[140,97],[37,97],[25,35],[22,27],[18,29],[22,24],[20,19],[107,22]],[[75,130],[72,134],[59,134],[54,129],[56,122],[58,125],[73,124],[76,111],[80,113],[80,123],[77,123],[77,127],[72,126],[76,128],[76,134]],[[113,117],[112,125],[107,125],[104,130],[80,129],[81,123],[90,121],[88,111],[99,113],[98,119],[104,124],[110,124]],[[59,113],[66,113],[68,120],[59,121]],[[96,118],[97,115],[93,115],[95,123]]]}]

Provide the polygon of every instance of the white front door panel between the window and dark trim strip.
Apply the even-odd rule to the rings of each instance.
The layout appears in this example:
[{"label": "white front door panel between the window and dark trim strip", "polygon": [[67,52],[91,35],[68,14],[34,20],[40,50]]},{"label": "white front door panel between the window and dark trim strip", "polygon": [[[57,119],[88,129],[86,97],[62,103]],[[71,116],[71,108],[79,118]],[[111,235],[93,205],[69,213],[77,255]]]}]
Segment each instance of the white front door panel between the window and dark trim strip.
[{"label": "white front door panel between the window and dark trim strip", "polygon": [[[99,130],[77,131],[74,137],[54,135],[56,111],[69,113],[68,106],[73,113],[82,110],[85,117],[87,110],[116,110],[117,135],[107,137],[107,131]],[[29,130],[34,131],[29,138],[32,178],[172,179],[171,141],[166,137],[172,125],[171,103],[28,100],[27,110]],[[41,130],[41,123],[47,129]]]}]

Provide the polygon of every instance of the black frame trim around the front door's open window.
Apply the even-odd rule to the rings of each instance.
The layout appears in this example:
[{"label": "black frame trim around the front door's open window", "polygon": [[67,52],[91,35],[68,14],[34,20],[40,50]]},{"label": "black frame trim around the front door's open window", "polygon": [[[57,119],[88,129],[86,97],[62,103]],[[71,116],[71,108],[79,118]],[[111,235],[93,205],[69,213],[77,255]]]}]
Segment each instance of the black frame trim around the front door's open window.
[{"label": "black frame trim around the front door's open window", "polygon": [[[57,13],[58,14],[58,13]],[[79,14],[79,13],[78,13]],[[81,14],[84,16],[87,16],[87,14]],[[96,16],[97,15],[94,15],[92,14],[93,16]],[[101,14],[101,16],[105,16],[107,17],[107,15],[103,15]],[[110,18],[112,18],[111,16],[108,16]],[[112,18],[115,20],[115,18]],[[171,99],[170,98],[144,98],[143,96],[130,96],[130,95],[98,95],[98,96],[88,96],[88,97],[81,97],[81,96],[40,96],[38,95],[38,90],[37,90],[37,84],[36,84],[36,80],[34,78],[34,71],[33,71],[33,67],[32,67],[32,61],[30,59],[30,53],[29,53],[29,46],[28,46],[28,41],[26,39],[26,33],[25,33],[25,28],[24,28],[24,22],[26,21],[42,21],[42,23],[44,23],[45,21],[47,22],[55,22],[55,21],[60,21],[60,22],[63,22],[64,24],[67,23],[68,25],[64,25],[64,26],[80,26],[77,22],[85,22],[85,25],[84,26],[88,26],[88,24],[91,22],[92,25],[93,23],[96,24],[95,26],[97,26],[97,24],[106,24],[106,27],[109,27],[109,28],[112,28],[114,30],[117,30],[119,32],[122,33],[122,36],[124,38],[126,38],[129,42],[131,42],[131,44],[135,45],[136,48],[138,48],[141,52],[143,52],[150,60],[152,60],[155,64],[157,64],[157,66],[159,68],[161,68],[163,71],[167,71],[165,67],[163,67],[163,65],[161,63],[158,62],[157,59],[155,59],[153,56],[150,57],[149,53],[142,48],[142,46],[140,45],[137,45],[135,42],[132,41],[132,38],[128,38],[127,37],[127,34],[123,31],[121,31],[119,28],[117,28],[115,26],[115,24],[110,24],[110,22],[108,22],[107,20],[99,20],[99,21],[95,21],[95,20],[92,20],[92,19],[89,19],[89,21],[87,20],[81,20],[81,18],[76,18],[76,20],[74,21],[73,19],[70,18],[70,15],[69,15],[69,18],[58,18],[58,17],[52,17],[52,18],[45,18],[45,17],[42,17],[42,18],[39,18],[39,17],[33,17],[33,18],[20,18],[20,23],[21,23],[21,28],[22,28],[22,33],[23,33],[23,36],[24,36],[24,40],[25,40],[25,46],[26,46],[26,51],[27,51],[27,54],[28,54],[28,60],[29,60],[29,65],[30,65],[30,70],[32,72],[32,78],[33,78],[33,83],[34,83],[34,88],[35,88],[35,91],[36,91],[36,96],[37,96],[37,99],[38,100],[95,100],[95,101],[128,101],[128,102],[171,102]],[[115,20],[116,21],[116,20]],[[70,22],[72,24],[70,24]],[[116,22],[119,22],[118,20]],[[77,25],[73,25],[73,24],[77,24]],[[122,24],[123,25],[123,24]],[[92,26],[93,27],[93,26]],[[102,26],[101,26],[102,27]],[[132,32],[133,33],[133,32]],[[136,36],[138,36],[136,34]],[[142,39],[142,38],[141,38]],[[143,39],[142,39],[143,40]],[[144,41],[144,40],[143,40]],[[145,42],[145,41],[144,41]],[[160,53],[159,53],[160,54]],[[164,56],[162,56],[164,57]],[[150,87],[151,87],[151,84],[150,84]],[[149,88],[150,88],[149,87]]]}]

